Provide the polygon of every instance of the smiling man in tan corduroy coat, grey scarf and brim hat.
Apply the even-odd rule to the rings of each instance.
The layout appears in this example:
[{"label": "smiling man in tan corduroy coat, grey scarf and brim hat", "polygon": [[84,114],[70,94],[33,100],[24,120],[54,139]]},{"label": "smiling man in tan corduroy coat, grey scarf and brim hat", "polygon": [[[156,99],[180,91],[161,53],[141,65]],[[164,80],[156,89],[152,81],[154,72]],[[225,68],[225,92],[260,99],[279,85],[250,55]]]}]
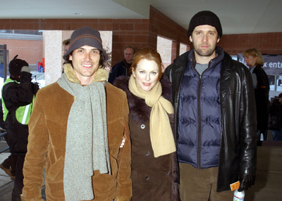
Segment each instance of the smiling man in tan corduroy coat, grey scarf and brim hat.
[{"label": "smiling man in tan corduroy coat, grey scarf and brim hat", "polygon": [[35,100],[22,200],[41,200],[44,178],[47,200],[129,201],[128,104],[125,93],[106,82],[100,33],[75,30],[63,58],[62,77]]}]

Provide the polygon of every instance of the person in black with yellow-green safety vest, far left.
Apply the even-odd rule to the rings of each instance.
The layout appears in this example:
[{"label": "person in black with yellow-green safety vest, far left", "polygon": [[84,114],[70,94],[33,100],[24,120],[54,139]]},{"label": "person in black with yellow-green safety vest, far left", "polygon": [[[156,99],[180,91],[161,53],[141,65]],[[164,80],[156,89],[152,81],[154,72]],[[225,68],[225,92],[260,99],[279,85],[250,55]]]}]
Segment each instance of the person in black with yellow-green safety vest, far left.
[{"label": "person in black with yellow-green safety vest, far left", "polygon": [[9,64],[10,77],[2,88],[2,108],[11,154],[17,155],[16,178],[12,200],[20,200],[23,189],[23,162],[27,153],[28,121],[32,112],[32,103],[39,90],[32,82],[30,67],[25,60],[17,56]]}]

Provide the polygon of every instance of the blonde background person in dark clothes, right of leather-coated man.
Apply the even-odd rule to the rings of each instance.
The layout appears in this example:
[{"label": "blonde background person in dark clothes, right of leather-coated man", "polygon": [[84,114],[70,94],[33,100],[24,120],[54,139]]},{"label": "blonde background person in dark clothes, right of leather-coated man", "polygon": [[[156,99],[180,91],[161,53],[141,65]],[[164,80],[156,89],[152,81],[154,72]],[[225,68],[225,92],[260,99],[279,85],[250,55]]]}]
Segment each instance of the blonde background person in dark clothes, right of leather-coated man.
[{"label": "blonde background person in dark clothes, right of leather-coated man", "polygon": [[267,140],[269,124],[269,78],[262,68],[264,59],[257,48],[250,48],[243,52],[245,63],[250,67],[252,83],[255,89],[255,103],[257,106],[257,132],[264,135]]}]

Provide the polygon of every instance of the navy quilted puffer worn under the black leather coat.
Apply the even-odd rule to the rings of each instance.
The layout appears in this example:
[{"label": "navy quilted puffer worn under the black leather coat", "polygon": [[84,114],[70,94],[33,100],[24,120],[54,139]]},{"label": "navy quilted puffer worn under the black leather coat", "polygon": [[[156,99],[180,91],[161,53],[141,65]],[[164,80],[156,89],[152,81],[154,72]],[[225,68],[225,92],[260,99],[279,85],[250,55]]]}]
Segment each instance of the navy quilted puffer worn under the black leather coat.
[{"label": "navy quilted puffer worn under the black leather coat", "polygon": [[[200,75],[192,63],[185,67],[178,110],[178,161],[195,168],[219,166],[221,105],[219,96],[223,51]],[[188,60],[192,60],[190,52]],[[189,154],[187,154],[189,153]]]}]

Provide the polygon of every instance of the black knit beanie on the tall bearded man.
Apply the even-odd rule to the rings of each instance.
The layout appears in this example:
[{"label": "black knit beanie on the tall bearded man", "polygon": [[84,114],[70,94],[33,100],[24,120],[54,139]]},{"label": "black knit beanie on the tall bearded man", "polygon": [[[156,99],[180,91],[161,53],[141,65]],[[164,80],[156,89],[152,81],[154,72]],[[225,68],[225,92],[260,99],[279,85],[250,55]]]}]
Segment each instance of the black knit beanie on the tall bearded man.
[{"label": "black knit beanie on the tall bearded man", "polygon": [[219,37],[222,37],[221,22],[219,20],[219,17],[217,17],[216,14],[212,13],[212,11],[200,11],[192,17],[187,32],[188,38],[194,31],[195,27],[200,25],[211,25],[212,27],[215,27],[217,32],[219,33]]}]

